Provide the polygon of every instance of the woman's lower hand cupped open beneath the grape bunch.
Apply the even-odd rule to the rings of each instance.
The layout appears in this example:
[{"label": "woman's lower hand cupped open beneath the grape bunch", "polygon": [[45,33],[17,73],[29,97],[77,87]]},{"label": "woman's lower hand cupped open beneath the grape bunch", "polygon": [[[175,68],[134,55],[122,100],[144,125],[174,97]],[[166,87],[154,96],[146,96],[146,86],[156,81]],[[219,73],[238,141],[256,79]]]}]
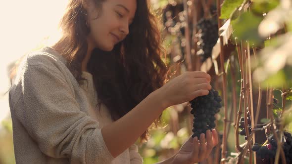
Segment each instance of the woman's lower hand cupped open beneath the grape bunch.
[{"label": "woman's lower hand cupped open beneath the grape bunch", "polygon": [[215,129],[206,131],[205,136],[202,133],[198,141],[197,137],[190,137],[173,157],[172,164],[194,164],[201,162],[209,157],[214,146],[218,144],[218,136]]}]

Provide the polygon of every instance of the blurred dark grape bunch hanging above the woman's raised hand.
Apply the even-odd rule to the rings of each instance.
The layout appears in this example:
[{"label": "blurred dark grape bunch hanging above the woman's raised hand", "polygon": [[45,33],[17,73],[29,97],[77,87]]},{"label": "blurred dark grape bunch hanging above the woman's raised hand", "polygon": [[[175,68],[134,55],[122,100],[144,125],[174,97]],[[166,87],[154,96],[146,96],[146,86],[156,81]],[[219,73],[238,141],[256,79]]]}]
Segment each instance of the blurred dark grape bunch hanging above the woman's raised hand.
[{"label": "blurred dark grape bunch hanging above the woman's raised hand", "polygon": [[197,52],[201,62],[212,55],[213,46],[218,40],[218,25],[212,19],[204,19],[197,23]]}]

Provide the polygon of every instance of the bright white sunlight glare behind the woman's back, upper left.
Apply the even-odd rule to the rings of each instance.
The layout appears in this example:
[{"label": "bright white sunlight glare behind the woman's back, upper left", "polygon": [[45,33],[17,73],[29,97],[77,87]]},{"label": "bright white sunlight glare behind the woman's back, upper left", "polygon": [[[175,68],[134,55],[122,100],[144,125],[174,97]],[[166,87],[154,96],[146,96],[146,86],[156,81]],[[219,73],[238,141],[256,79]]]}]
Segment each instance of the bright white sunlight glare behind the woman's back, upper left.
[{"label": "bright white sunlight glare behind the woman's back, upper left", "polygon": [[[56,34],[59,20],[67,0],[5,0],[0,7],[0,93],[5,93],[10,83],[8,64],[37,47],[49,35]],[[0,96],[0,122],[9,113],[8,94]]]}]

